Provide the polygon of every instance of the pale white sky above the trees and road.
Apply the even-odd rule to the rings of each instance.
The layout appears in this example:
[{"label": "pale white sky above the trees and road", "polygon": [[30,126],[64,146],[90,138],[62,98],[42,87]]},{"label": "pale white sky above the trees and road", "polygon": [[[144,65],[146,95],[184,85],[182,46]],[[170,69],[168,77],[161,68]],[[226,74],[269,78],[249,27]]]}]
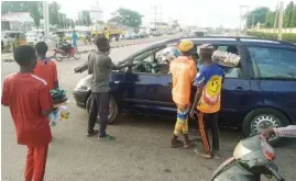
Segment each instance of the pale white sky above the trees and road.
[{"label": "pale white sky above the trees and road", "polygon": [[[96,0],[57,0],[62,5],[62,12],[69,18],[76,18],[77,12],[89,10],[91,4],[97,3]],[[284,0],[285,5],[290,0]],[[176,3],[177,2],[177,3]],[[111,18],[111,13],[119,8],[128,8],[140,12],[143,18],[143,25],[154,21],[154,9],[157,7],[157,21],[162,9],[162,20],[169,22],[178,20],[182,25],[198,25],[217,27],[239,27],[240,25],[240,8],[239,5],[248,5],[251,11],[257,7],[268,7],[275,10],[278,0],[99,0],[98,3],[102,8],[103,21]],[[296,0],[294,0],[296,2]],[[248,11],[242,9],[242,13]]]}]

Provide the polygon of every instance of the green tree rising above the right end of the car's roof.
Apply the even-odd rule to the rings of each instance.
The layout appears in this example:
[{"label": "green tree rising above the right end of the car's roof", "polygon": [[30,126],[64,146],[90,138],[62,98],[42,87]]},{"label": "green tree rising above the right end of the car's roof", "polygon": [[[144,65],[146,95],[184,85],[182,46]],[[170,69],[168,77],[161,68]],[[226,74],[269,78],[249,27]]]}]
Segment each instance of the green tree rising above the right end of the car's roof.
[{"label": "green tree rising above the right end of the car's roof", "polygon": [[268,8],[262,7],[262,8],[256,8],[250,13],[245,14],[246,27],[250,29],[252,26],[252,23],[253,24],[256,24],[257,22],[265,23],[265,16],[268,11],[270,11]]}]

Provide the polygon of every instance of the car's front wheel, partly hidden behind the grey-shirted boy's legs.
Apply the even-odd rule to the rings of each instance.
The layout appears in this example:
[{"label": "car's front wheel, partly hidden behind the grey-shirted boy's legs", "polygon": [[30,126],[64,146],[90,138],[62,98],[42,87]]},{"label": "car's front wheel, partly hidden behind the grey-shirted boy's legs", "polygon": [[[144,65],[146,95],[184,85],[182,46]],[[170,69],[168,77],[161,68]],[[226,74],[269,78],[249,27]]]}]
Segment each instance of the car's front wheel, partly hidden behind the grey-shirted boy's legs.
[{"label": "car's front wheel, partly hidden behind the grey-shirted boy's legs", "polygon": [[[88,97],[87,101],[86,101],[86,110],[89,113],[90,111],[90,106],[91,106],[91,95]],[[110,102],[109,102],[109,115],[108,115],[108,124],[113,124],[117,120],[117,116],[119,114],[118,111],[118,104],[117,101],[114,99],[114,97],[110,95]],[[98,120],[97,123],[100,123],[100,116],[98,115]]]}]

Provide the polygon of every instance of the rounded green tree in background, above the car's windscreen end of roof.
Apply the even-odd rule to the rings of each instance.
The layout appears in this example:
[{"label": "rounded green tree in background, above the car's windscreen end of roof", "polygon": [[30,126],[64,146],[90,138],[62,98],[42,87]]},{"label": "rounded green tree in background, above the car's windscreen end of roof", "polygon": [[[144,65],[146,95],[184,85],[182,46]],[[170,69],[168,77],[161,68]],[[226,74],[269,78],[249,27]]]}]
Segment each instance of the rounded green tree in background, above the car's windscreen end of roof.
[{"label": "rounded green tree in background, above the car's windscreen end of roof", "polygon": [[117,19],[121,24],[131,26],[131,27],[139,27],[142,24],[142,18],[139,12],[120,8],[117,10],[118,15],[114,16],[113,19]]}]

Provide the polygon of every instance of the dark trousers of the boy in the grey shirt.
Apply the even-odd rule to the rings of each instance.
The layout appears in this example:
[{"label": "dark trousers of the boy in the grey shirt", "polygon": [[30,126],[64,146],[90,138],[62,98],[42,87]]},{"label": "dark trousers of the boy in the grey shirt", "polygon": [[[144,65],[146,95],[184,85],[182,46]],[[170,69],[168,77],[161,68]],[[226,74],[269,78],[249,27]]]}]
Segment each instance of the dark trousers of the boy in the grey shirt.
[{"label": "dark trousers of the boy in the grey shirt", "polygon": [[88,132],[92,132],[98,115],[100,116],[100,129],[99,136],[106,135],[106,128],[108,124],[109,115],[109,92],[92,92],[91,93],[91,105],[88,120]]}]

